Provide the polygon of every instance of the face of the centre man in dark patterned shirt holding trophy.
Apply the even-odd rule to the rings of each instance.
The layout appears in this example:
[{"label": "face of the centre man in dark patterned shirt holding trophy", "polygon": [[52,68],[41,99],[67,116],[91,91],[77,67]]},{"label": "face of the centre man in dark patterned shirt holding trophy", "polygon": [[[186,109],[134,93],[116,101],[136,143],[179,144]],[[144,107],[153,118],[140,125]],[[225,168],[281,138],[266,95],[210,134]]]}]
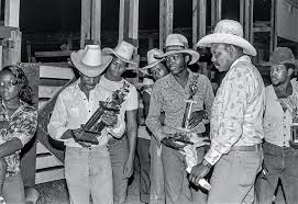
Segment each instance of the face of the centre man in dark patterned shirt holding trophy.
[{"label": "face of the centre man in dark patterned shirt holding trophy", "polygon": [[181,53],[166,57],[166,66],[173,75],[179,75],[186,69],[186,59]]}]

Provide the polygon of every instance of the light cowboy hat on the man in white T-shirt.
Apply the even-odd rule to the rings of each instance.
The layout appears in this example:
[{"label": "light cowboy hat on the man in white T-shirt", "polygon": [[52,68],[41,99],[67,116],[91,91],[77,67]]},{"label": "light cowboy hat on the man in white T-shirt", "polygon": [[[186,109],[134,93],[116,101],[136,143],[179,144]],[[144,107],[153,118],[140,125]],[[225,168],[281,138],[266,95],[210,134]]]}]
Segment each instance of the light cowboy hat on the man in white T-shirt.
[{"label": "light cowboy hat on the man in white T-shirt", "polygon": [[122,41],[117,45],[114,49],[110,47],[106,47],[102,49],[102,53],[106,55],[114,55],[119,59],[129,63],[129,64],[135,64],[134,60],[132,60],[134,46],[125,41]]}]

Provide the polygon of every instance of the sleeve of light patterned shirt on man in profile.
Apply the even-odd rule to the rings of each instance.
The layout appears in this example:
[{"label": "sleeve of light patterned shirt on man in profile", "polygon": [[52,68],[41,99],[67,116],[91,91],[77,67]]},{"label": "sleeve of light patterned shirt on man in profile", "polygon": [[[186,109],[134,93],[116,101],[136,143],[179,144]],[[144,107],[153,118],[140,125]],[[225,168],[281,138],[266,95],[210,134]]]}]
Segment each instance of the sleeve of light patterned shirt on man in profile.
[{"label": "sleeve of light patterned shirt on man in profile", "polygon": [[211,115],[212,140],[210,149],[205,156],[205,159],[211,165],[214,165],[223,154],[228,154],[242,134],[247,93],[251,88],[247,83],[250,79],[241,68],[231,70],[217,95],[214,107],[212,107],[216,110]]}]

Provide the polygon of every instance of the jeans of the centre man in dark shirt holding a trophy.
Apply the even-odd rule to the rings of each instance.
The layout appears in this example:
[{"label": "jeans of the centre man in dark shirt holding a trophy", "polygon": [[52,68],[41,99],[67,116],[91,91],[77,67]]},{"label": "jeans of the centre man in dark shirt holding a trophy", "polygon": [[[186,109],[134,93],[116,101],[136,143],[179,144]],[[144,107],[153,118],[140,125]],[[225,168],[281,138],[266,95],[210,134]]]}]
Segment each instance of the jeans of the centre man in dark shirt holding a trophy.
[{"label": "jeans of the centre man in dark shirt holding a trophy", "polygon": [[[203,158],[203,148],[198,148],[199,162]],[[190,186],[187,178],[185,156],[179,150],[163,145],[162,161],[164,168],[165,195],[167,204],[189,204],[206,202],[206,194]]]}]

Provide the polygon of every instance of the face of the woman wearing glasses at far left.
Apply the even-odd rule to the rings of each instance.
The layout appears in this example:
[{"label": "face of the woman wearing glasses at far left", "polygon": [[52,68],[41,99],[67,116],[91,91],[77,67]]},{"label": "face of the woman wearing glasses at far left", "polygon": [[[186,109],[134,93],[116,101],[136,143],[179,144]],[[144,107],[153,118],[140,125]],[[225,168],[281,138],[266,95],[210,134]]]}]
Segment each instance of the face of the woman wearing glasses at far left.
[{"label": "face of the woman wearing glasses at far left", "polygon": [[20,100],[19,97],[20,86],[15,77],[9,72],[3,71],[0,73],[0,94],[4,102]]}]

